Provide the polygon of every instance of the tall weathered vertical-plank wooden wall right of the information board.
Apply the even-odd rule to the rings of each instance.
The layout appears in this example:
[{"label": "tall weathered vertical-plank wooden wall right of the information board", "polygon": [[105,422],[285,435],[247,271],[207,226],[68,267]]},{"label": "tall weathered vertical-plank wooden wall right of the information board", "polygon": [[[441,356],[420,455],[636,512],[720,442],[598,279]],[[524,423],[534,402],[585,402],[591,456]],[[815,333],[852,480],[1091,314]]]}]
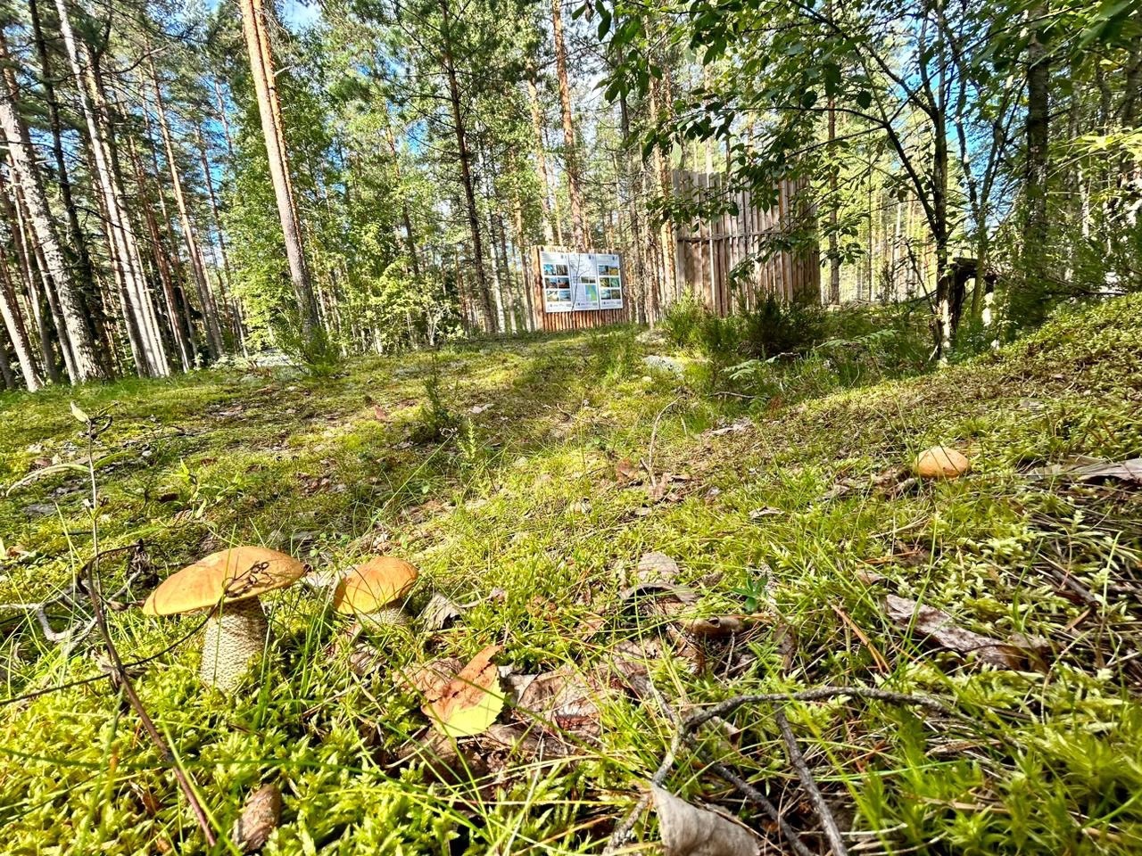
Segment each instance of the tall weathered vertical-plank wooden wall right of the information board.
[{"label": "tall weathered vertical-plank wooden wall right of the information board", "polygon": [[[699,196],[718,194],[721,173],[675,170],[675,194]],[[739,302],[747,308],[757,306],[767,294],[783,300],[821,299],[820,251],[773,253],[757,260],[772,239],[790,228],[799,211],[798,191],[804,181],[782,181],[778,187],[777,205],[762,209],[754,205],[748,191],[730,194],[738,212],[724,212],[703,220],[697,228],[678,226],[675,231],[676,294],[690,294],[719,315],[737,310]],[[731,288],[731,272],[742,266],[737,288]],[[669,298],[667,299],[669,302]],[[665,307],[664,307],[665,308]]]}]

